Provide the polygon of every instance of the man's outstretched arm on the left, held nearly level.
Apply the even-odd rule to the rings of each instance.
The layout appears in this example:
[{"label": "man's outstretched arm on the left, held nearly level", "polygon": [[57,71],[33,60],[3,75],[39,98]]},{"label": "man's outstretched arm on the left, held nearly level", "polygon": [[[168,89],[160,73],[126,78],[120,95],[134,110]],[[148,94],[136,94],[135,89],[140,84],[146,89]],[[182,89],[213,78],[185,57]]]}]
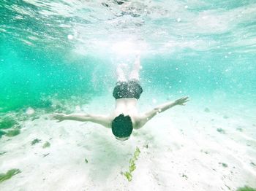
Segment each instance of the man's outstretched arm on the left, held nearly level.
[{"label": "man's outstretched arm on the left, held nearly level", "polygon": [[82,122],[95,122],[100,125],[109,128],[110,120],[108,116],[102,114],[59,114],[53,113],[50,115],[52,120],[58,120],[57,122],[61,122],[63,120],[75,120],[75,121],[82,121]]}]

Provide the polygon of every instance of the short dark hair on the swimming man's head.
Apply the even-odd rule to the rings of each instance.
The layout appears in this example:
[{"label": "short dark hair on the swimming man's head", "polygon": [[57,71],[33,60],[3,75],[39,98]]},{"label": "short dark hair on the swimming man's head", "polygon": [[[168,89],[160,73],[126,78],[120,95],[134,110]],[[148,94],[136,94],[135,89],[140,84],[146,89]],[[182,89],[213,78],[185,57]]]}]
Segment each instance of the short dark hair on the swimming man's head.
[{"label": "short dark hair on the swimming man's head", "polygon": [[129,115],[120,114],[112,122],[112,133],[119,137],[127,137],[132,134],[132,119]]}]

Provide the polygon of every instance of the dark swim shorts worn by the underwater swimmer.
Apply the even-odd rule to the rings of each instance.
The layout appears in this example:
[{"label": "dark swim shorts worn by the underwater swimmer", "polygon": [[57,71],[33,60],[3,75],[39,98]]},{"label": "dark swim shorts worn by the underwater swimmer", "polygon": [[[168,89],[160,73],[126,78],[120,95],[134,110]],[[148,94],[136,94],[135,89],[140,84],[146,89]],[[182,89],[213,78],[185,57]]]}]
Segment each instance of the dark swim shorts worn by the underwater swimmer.
[{"label": "dark swim shorts worn by the underwater swimmer", "polygon": [[136,98],[139,99],[143,89],[138,80],[132,79],[128,82],[117,82],[113,90],[113,97],[120,98]]}]

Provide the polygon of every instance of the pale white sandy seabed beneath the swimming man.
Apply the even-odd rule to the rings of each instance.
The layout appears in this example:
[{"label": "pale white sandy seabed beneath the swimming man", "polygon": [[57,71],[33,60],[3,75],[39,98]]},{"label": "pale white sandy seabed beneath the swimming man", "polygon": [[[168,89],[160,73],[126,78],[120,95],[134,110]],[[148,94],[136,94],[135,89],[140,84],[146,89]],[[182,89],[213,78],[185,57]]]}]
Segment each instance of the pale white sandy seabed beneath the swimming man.
[{"label": "pale white sandy seabed beneath the swimming man", "polygon": [[[151,99],[143,99],[140,106],[148,109]],[[95,98],[83,109],[102,113],[113,109],[113,103],[110,97]],[[208,104],[208,112],[206,106],[193,101],[176,106],[134,130],[124,142],[114,139],[110,129],[90,122],[57,123],[45,120],[48,115],[25,121],[20,135],[0,139],[0,152],[7,152],[0,155],[0,172],[21,171],[2,182],[0,190],[217,191],[256,187],[256,122],[250,114],[255,111],[239,113],[218,106]],[[32,146],[34,139],[41,141]],[[45,141],[50,147],[43,149]],[[140,156],[132,182],[128,182],[121,172],[128,171],[136,147]]]}]

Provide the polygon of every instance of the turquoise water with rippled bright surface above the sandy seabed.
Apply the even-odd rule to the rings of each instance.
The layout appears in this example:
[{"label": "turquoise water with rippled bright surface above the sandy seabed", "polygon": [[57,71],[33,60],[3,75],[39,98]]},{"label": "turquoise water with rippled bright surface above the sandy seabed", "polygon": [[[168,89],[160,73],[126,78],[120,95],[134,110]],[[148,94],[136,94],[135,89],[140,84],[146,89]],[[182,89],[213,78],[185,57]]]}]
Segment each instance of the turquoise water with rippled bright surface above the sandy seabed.
[{"label": "turquoise water with rippled bright surface above the sandy seabed", "polygon": [[120,2],[1,1],[0,112],[110,94],[136,52],[144,89],[255,99],[255,1]]}]

